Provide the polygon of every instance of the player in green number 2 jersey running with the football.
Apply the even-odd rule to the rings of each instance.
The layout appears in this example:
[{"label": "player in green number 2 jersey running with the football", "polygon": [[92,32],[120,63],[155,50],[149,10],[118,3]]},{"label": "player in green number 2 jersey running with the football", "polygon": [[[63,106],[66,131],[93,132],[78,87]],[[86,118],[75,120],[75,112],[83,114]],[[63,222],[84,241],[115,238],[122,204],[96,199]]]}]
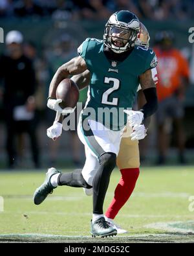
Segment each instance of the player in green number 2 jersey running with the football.
[{"label": "player in green number 2 jersey running with the football", "polygon": [[[136,130],[157,107],[156,87],[151,75],[151,69],[157,63],[156,56],[151,49],[135,46],[139,30],[140,22],[135,14],[125,10],[116,12],[105,26],[103,41],[85,40],[78,49],[80,56],[59,67],[50,83],[47,106],[63,113],[56,100],[59,82],[69,75],[90,71],[89,97],[80,115],[78,135],[89,149],[87,157],[96,157],[99,167],[92,186],[84,180],[80,170],[62,174],[56,169],[48,169],[44,183],[34,193],[34,203],[41,204],[58,185],[93,187],[91,233],[94,236],[117,233],[105,221],[103,201],[116,165],[124,126],[128,120]],[[140,111],[132,111],[129,109],[133,106],[139,83],[147,103]],[[104,117],[106,111],[111,113],[110,118]],[[61,120],[61,117],[56,119]]]}]

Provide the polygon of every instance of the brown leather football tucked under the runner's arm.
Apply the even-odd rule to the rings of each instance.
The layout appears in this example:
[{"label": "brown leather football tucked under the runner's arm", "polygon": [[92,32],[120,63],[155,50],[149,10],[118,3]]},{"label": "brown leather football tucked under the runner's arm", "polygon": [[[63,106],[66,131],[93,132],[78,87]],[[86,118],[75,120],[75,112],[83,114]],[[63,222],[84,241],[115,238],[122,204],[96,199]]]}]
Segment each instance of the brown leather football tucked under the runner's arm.
[{"label": "brown leather football tucked under the runner's arm", "polygon": [[79,89],[69,78],[63,79],[56,89],[56,99],[61,99],[61,108],[74,108],[79,99]]}]

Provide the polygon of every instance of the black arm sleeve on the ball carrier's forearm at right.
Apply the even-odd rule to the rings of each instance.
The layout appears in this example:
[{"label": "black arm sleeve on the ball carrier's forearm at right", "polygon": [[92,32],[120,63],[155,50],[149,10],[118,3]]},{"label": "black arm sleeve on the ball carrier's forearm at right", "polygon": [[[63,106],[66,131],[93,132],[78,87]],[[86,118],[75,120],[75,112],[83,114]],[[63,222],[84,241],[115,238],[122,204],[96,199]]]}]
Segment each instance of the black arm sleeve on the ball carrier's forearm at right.
[{"label": "black arm sleeve on the ball carrier's forearm at right", "polygon": [[151,87],[143,90],[146,104],[141,108],[140,111],[144,113],[144,119],[153,115],[158,108],[158,98],[156,94],[156,87]]}]

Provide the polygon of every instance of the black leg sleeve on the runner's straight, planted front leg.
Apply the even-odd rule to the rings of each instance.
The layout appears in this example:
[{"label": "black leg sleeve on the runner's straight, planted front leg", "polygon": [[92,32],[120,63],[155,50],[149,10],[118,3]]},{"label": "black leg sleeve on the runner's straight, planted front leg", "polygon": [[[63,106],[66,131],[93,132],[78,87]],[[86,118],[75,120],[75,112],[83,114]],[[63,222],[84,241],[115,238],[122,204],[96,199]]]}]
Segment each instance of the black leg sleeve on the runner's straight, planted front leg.
[{"label": "black leg sleeve on the runner's straight, planted front leg", "polygon": [[108,152],[100,156],[98,160],[100,167],[93,181],[93,213],[102,215],[111,172],[116,166],[116,154]]}]

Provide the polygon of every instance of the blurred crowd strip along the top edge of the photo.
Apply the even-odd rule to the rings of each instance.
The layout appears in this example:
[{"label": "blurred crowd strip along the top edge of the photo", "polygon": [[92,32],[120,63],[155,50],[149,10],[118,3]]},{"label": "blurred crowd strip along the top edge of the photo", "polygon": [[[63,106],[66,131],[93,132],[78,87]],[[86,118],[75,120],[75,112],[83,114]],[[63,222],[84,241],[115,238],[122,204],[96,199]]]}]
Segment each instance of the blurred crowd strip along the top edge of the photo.
[{"label": "blurred crowd strip along the top edge of the photo", "polygon": [[107,19],[116,10],[131,10],[140,19],[191,19],[194,0],[1,0],[0,17]]}]

